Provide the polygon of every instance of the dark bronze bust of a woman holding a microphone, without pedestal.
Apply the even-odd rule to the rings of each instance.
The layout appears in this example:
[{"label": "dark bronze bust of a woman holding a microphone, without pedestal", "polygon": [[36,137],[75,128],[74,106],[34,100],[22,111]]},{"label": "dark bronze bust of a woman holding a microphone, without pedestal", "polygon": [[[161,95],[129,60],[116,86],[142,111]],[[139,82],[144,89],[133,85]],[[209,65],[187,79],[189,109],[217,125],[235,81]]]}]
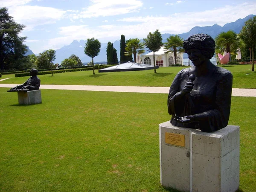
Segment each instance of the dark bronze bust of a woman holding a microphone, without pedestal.
[{"label": "dark bronze bust of a woman holding a microphone, without pedestal", "polygon": [[215,41],[204,34],[192,35],[183,48],[194,66],[181,70],[172,82],[168,112],[172,125],[216,131],[228,124],[233,76],[210,58]]}]

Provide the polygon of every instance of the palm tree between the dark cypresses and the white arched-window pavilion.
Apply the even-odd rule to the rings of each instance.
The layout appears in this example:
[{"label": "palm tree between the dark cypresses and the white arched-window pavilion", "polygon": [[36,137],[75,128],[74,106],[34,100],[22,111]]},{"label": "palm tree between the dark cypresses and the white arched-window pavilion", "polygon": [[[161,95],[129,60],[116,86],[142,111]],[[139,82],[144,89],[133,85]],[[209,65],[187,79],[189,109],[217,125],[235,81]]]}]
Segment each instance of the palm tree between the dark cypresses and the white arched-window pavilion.
[{"label": "palm tree between the dark cypresses and the white arched-window pavilion", "polygon": [[126,42],[126,47],[125,47],[125,55],[134,55],[134,62],[136,63],[136,55],[137,53],[143,54],[145,52],[144,50],[145,46],[143,43],[140,43],[140,39],[135,38],[135,39],[129,39]]}]

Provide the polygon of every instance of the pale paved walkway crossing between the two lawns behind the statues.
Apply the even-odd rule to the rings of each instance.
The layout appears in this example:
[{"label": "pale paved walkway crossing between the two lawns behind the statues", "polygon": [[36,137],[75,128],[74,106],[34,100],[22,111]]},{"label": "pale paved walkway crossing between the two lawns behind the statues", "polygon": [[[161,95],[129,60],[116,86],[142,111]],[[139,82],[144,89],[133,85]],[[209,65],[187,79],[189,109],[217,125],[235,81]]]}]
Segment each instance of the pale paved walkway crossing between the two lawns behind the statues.
[{"label": "pale paved walkway crossing between the two lawns behind the statues", "polygon": [[[0,87],[15,87],[17,84],[0,84]],[[170,87],[100,86],[100,85],[53,85],[41,84],[40,89],[89,90],[134,93],[169,93]],[[232,89],[232,96],[256,97],[256,89]]]}]

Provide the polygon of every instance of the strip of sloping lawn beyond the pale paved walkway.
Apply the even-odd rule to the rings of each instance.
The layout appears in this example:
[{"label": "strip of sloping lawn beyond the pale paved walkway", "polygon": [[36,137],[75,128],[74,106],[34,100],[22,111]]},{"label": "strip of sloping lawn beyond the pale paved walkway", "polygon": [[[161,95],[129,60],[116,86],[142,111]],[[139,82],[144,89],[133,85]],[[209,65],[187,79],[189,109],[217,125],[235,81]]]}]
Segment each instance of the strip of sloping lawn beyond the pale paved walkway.
[{"label": "strip of sloping lawn beyond the pale paved walkway", "polygon": [[[72,73],[59,73],[41,75],[41,84],[77,84],[77,85],[116,85],[116,86],[151,86],[170,87],[176,74],[185,67],[161,67],[154,70],[131,71],[131,72],[110,72],[92,75],[92,71],[81,71]],[[233,73],[233,88],[256,88],[256,72],[251,71],[251,65],[230,65],[225,66]],[[28,77],[15,78],[14,75],[3,75],[0,79],[12,77],[2,84],[21,84]]]}]

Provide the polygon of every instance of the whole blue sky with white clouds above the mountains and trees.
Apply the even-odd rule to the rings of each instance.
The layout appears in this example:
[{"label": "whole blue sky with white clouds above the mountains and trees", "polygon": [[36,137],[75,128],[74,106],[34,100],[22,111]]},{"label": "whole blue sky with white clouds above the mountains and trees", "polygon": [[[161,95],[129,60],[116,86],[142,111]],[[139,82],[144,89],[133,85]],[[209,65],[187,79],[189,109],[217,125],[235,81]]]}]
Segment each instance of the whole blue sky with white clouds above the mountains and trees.
[{"label": "whole blue sky with white clouds above the mountains and trees", "polygon": [[180,34],[256,14],[255,0],[0,0],[0,6],[26,25],[20,35],[36,54],[73,40],[145,38],[156,29]]}]

